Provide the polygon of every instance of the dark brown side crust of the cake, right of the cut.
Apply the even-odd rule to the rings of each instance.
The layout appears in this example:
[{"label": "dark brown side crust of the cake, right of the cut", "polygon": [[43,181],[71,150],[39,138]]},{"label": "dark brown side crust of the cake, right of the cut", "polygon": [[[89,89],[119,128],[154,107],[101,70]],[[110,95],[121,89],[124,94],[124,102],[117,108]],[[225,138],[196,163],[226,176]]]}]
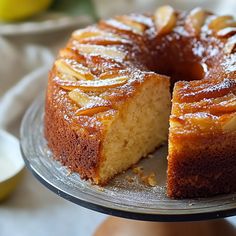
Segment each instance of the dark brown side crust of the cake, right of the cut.
[{"label": "dark brown side crust of the cake, right of the cut", "polygon": [[168,157],[169,197],[207,197],[236,191],[236,132],[171,134],[169,139],[175,147]]}]

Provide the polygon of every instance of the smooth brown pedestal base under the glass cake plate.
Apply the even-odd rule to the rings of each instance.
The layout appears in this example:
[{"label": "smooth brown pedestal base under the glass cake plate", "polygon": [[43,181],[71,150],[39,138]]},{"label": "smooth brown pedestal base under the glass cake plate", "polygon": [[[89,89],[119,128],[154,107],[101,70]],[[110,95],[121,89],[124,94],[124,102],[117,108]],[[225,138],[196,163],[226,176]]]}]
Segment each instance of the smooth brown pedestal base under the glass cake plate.
[{"label": "smooth brown pedestal base under the glass cake plate", "polygon": [[226,220],[200,222],[147,222],[108,217],[94,236],[235,236],[236,228]]}]

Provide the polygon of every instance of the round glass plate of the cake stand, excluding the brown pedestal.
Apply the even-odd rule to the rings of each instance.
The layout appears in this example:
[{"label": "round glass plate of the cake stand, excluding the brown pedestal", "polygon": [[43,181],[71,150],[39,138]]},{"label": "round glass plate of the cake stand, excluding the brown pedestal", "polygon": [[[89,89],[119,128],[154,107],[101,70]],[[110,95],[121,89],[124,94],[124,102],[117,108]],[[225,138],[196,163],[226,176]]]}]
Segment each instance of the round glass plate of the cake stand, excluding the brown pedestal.
[{"label": "round glass plate of the cake stand, excluding the brown pedestal", "polygon": [[[44,138],[44,98],[36,99],[21,126],[21,150],[34,176],[57,195],[108,215],[142,221],[180,222],[236,215],[236,193],[211,198],[172,200],[166,196],[166,146],[143,159],[146,174],[155,172],[157,186],[148,187],[128,170],[101,188],[80,179],[53,159]],[[132,178],[132,181],[130,179]]]}]

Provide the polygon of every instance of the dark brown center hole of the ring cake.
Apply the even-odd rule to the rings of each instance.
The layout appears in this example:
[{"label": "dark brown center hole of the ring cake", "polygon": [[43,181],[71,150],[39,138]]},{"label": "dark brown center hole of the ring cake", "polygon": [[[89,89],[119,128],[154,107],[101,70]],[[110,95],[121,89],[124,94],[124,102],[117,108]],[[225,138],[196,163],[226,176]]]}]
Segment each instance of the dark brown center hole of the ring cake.
[{"label": "dark brown center hole of the ring cake", "polygon": [[199,52],[201,45],[195,45],[194,50],[188,41],[182,42],[181,47],[173,41],[168,44],[161,42],[161,45],[164,46],[153,50],[145,63],[151,71],[170,76],[172,87],[179,80],[201,80],[206,76],[208,66],[198,55],[202,53]]}]

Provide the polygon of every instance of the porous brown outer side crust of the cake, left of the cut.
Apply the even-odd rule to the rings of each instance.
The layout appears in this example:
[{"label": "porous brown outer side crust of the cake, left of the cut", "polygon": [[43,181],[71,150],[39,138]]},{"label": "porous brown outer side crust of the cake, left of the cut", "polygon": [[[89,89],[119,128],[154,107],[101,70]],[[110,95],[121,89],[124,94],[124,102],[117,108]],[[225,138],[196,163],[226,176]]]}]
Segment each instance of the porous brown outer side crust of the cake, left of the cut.
[{"label": "porous brown outer side crust of the cake, left of the cut", "polygon": [[[58,102],[58,99],[62,102]],[[99,132],[90,135],[78,130],[68,115],[68,99],[52,81],[48,83],[45,115],[45,137],[54,157],[82,178],[95,178],[99,161]],[[67,106],[67,107],[66,107]],[[73,108],[72,108],[73,109]],[[73,128],[74,127],[74,128]],[[86,158],[85,158],[86,157]]]}]

